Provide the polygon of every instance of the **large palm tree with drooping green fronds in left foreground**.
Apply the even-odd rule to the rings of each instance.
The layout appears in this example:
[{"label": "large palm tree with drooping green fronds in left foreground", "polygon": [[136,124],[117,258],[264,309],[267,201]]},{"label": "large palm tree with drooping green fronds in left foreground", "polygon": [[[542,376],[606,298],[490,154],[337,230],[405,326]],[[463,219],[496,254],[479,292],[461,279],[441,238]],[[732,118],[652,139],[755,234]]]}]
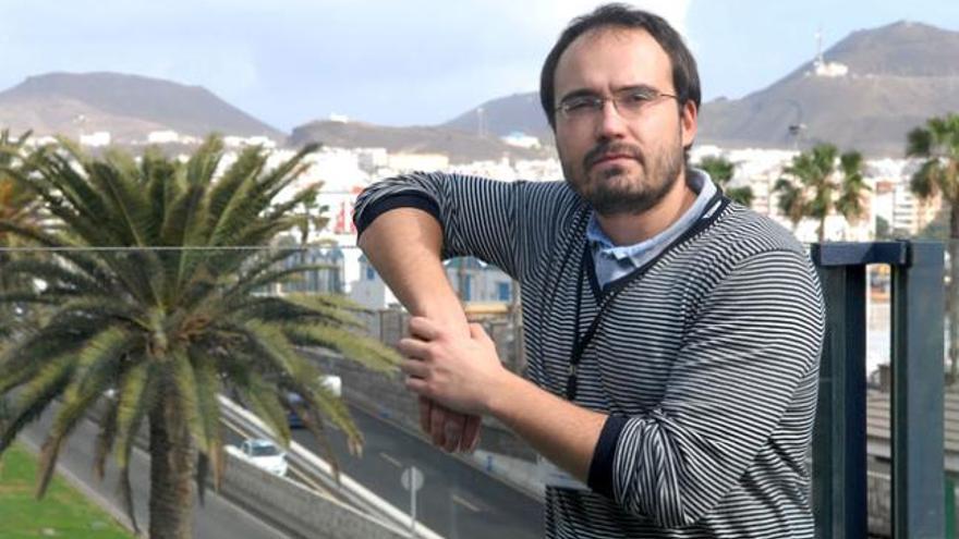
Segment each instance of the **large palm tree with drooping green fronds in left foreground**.
[{"label": "large palm tree with drooping green fronds in left foreground", "polygon": [[[357,333],[352,304],[341,297],[263,293],[309,269],[283,268],[291,253],[263,247],[295,225],[288,211],[313,195],[311,187],[275,203],[313,149],[268,170],[266,154],[250,148],[218,175],[223,149],[216,137],[186,162],[157,150],[139,162],[119,151],[90,159],[63,145],[36,150],[26,173],[12,172],[62,223],[37,231],[0,222],[0,231],[49,248],[44,258],[7,268],[43,286],[0,297],[48,309],[0,354],[0,395],[14,397],[0,425],[0,452],[60,401],[41,450],[38,497],[64,440],[97,403],[106,413],[95,469],[102,477],[114,454],[131,519],[130,452],[141,427],[148,428],[149,537],[190,537],[192,480],[201,501],[208,471],[220,485],[217,396],[227,388],[284,443],[284,405],[294,392],[300,416],[327,450],[326,420],[359,450],[362,438],[344,404],[296,347],[332,348],[376,369],[391,368],[394,353]],[[101,399],[110,390],[116,397]]]}]

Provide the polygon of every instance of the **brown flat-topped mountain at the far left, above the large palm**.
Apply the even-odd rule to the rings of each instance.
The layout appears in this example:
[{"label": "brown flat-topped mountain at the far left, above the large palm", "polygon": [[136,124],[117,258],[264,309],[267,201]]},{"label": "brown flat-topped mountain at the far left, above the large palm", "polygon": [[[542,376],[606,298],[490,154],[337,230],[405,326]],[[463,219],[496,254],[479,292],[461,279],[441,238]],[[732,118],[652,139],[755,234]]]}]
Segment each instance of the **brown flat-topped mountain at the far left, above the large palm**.
[{"label": "brown flat-topped mountain at the far left, above the large palm", "polygon": [[0,93],[0,126],[38,135],[110,132],[114,142],[143,140],[151,131],[203,137],[283,134],[199,86],[118,73],[50,73]]}]

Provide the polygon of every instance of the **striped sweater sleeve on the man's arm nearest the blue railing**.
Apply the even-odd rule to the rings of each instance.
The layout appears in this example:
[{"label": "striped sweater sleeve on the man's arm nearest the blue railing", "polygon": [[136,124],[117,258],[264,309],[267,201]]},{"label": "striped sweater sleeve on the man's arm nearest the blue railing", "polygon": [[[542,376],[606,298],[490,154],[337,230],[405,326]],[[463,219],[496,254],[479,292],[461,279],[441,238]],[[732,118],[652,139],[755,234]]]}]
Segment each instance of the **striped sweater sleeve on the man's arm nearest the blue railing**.
[{"label": "striped sweater sleeve on the man's arm nearest the blue railing", "polygon": [[824,332],[818,279],[802,253],[739,262],[701,304],[659,405],[606,429],[612,462],[594,462],[591,483],[660,526],[696,523],[756,465],[788,408],[803,408],[810,421],[794,434],[809,439]]}]

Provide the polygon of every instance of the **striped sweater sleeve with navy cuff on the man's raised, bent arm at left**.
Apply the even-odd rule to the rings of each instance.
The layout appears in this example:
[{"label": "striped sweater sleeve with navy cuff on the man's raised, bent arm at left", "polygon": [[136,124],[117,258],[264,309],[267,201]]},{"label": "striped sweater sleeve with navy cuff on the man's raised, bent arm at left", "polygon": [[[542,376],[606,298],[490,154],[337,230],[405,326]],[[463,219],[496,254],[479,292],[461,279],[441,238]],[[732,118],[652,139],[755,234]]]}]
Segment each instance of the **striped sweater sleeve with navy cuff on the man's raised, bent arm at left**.
[{"label": "striped sweater sleeve with navy cuff on the man's raised, bent arm at left", "polygon": [[[530,265],[542,258],[558,232],[543,216],[561,198],[557,196],[560,187],[559,182],[501,182],[417,172],[367,187],[356,200],[353,220],[362,235],[390,209],[420,208],[442,229],[444,259],[474,256],[523,281]],[[537,216],[538,222],[533,222]]]}]

